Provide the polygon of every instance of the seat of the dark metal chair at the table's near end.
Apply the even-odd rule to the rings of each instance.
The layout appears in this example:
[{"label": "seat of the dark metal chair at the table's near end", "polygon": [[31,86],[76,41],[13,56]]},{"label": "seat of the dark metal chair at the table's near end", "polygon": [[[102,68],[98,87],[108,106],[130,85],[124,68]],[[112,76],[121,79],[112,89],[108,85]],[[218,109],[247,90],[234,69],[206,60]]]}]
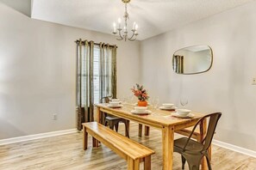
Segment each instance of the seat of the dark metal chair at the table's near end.
[{"label": "seat of the dark metal chair at the table's near end", "polygon": [[[177,152],[181,151],[184,148],[185,143],[187,142],[188,138],[187,137],[182,137],[179,139],[176,139],[174,141],[174,149],[176,149]],[[190,139],[185,152],[200,152],[203,150],[203,144],[202,143],[198,143],[197,141],[194,141],[192,139]]]}]

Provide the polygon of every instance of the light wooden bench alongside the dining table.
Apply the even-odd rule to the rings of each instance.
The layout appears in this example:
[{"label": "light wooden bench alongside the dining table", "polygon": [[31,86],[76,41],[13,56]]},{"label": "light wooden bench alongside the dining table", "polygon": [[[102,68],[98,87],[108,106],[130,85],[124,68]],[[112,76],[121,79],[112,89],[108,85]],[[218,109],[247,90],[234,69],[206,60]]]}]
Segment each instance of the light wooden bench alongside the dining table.
[{"label": "light wooden bench alongside the dining table", "polygon": [[128,162],[128,170],[140,169],[140,161],[144,161],[144,169],[151,169],[151,155],[154,151],[136,143],[128,137],[124,137],[116,131],[97,122],[83,124],[84,129],[84,150],[88,147],[88,133],[93,138],[93,145],[97,146],[98,141],[116,152]]}]

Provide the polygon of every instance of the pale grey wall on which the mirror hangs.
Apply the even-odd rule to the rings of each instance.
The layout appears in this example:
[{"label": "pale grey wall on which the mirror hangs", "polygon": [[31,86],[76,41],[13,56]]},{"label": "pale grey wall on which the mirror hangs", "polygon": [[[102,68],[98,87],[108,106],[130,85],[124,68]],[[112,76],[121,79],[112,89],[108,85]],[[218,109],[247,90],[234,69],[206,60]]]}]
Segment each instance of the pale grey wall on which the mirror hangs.
[{"label": "pale grey wall on which the mirror hangs", "polygon": [[[256,151],[256,2],[196,21],[141,42],[141,82],[152,96],[179,105],[189,98],[195,112],[222,112],[215,139]],[[182,76],[172,71],[172,54],[209,45],[211,70]],[[180,106],[180,105],[179,105]]]}]

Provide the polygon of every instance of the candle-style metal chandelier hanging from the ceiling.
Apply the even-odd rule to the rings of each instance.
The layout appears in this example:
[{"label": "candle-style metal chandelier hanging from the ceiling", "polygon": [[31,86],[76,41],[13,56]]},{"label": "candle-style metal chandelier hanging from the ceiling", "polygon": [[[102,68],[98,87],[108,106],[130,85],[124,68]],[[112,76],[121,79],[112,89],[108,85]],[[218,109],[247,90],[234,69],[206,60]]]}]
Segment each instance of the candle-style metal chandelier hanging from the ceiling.
[{"label": "candle-style metal chandelier hanging from the ceiling", "polygon": [[125,11],[124,11],[124,15],[123,15],[123,18],[124,18],[124,26],[123,26],[123,34],[122,34],[122,28],[121,28],[121,18],[118,18],[118,27],[116,28],[116,22],[114,22],[113,24],[113,27],[114,27],[114,30],[113,30],[113,34],[116,35],[116,30],[118,31],[118,35],[119,37],[117,38],[117,40],[122,40],[124,39],[125,41],[128,39],[130,41],[134,41],[136,38],[137,38],[137,35],[139,33],[137,33],[137,30],[138,30],[138,24],[136,24],[134,22],[134,25],[133,25],[133,28],[132,28],[132,35],[128,38],[128,24],[127,24],[127,21],[129,19],[129,15],[128,15],[128,11],[127,11],[127,3],[129,3],[130,0],[122,0],[122,3],[125,4]]}]

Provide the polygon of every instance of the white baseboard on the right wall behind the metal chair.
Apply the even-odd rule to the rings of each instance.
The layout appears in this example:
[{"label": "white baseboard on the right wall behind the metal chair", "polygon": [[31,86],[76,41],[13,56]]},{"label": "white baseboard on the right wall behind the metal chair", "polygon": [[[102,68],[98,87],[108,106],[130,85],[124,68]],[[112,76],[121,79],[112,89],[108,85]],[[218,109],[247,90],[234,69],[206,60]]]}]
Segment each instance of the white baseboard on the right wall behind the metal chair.
[{"label": "white baseboard on the right wall behind the metal chair", "polygon": [[229,149],[229,150],[233,150],[235,152],[239,152],[240,154],[249,155],[249,156],[252,156],[252,157],[256,158],[256,152],[253,151],[253,150],[244,149],[244,148],[241,148],[241,147],[235,146],[233,144],[229,144],[229,143],[223,143],[223,142],[217,141],[215,139],[212,140],[212,143],[219,146],[219,147]]}]

